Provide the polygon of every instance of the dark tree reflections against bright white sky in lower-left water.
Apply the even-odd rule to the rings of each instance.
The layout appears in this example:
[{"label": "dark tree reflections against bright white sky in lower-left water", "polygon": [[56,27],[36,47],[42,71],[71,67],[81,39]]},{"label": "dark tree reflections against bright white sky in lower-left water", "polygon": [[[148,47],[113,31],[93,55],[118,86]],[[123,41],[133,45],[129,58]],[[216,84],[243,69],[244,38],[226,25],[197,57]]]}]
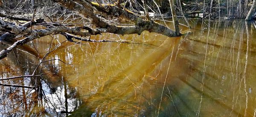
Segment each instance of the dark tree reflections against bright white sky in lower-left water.
[{"label": "dark tree reflections against bright white sky in lower-left water", "polygon": [[[0,49],[4,47],[7,46],[3,45]],[[23,51],[19,48],[1,60],[1,78],[33,74],[38,65],[36,63],[39,63],[38,53],[29,47],[21,48]],[[31,55],[31,53],[36,54]],[[2,80],[0,115],[60,116],[68,115],[70,111],[76,109],[81,102],[76,98],[77,91],[69,88],[59,69],[59,66],[44,63],[35,71],[35,74],[41,74],[40,76]]]}]

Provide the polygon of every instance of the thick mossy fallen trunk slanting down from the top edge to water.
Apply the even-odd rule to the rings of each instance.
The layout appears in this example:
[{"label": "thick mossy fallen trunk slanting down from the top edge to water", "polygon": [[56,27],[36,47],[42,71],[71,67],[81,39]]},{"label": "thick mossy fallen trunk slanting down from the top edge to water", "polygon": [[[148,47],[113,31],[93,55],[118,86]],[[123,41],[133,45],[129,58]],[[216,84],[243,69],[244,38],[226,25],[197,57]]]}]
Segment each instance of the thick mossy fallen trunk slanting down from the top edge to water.
[{"label": "thick mossy fallen trunk slanting down from the top edge to water", "polygon": [[[82,17],[87,18],[90,20],[90,22],[95,25],[98,28],[105,28],[105,32],[108,33],[115,33],[115,34],[141,34],[143,31],[149,31],[149,32],[154,32],[154,33],[160,33],[169,37],[177,37],[180,35],[176,35],[175,31],[160,25],[154,21],[148,21],[148,20],[143,20],[142,18],[138,17],[135,14],[132,14],[128,11],[124,11],[116,6],[105,6],[108,11],[104,11],[103,8],[99,6],[97,3],[90,3],[90,6],[93,6],[91,8],[88,4],[85,2],[75,0],[53,0],[57,3],[59,3],[62,6],[65,6],[66,8],[69,8],[72,11],[76,11],[79,13]],[[80,3],[80,4],[79,4]],[[88,3],[88,2],[87,2]],[[85,8],[86,7],[86,8]],[[112,15],[117,18],[123,18],[123,19],[128,19],[131,22],[134,22],[134,26],[130,27],[123,27],[123,26],[115,26],[115,25],[110,25],[104,21],[102,21],[99,17],[97,17],[92,10],[96,9],[98,12],[101,12],[103,15],[108,14]]]}]

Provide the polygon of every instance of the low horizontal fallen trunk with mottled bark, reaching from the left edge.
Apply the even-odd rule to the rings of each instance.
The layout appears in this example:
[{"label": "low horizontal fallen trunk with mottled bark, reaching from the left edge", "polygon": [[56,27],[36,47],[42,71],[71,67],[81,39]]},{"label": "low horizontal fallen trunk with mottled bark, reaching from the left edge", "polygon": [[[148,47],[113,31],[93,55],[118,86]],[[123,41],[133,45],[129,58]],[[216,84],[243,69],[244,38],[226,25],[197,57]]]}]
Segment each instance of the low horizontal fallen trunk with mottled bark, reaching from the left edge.
[{"label": "low horizontal fallen trunk with mottled bark, reaching from the left edge", "polygon": [[[140,27],[140,25],[146,25],[145,27]],[[19,40],[15,42],[12,46],[8,47],[7,49],[4,49],[0,51],[0,59],[3,59],[7,56],[8,53],[10,53],[13,49],[17,48],[20,45],[23,45],[27,42],[30,42],[36,38],[40,38],[42,36],[47,36],[52,33],[72,33],[74,35],[79,36],[90,36],[90,35],[97,35],[100,33],[106,33],[111,32],[113,33],[113,29],[111,28],[98,28],[96,30],[90,29],[88,27],[84,28],[87,31],[79,31],[77,28],[67,28],[65,26],[55,26],[53,28],[47,28],[47,29],[37,29],[37,30],[30,30],[23,26],[17,26],[10,22],[5,22],[3,20],[0,20],[0,31],[8,31],[12,34],[20,34],[20,35],[26,35],[27,37],[25,39]],[[159,32],[163,34],[170,34],[169,28],[166,28],[163,25],[159,25],[157,23],[153,24],[143,24],[143,22],[139,22],[135,26],[129,26],[129,27],[116,27],[115,32],[116,34],[131,34],[131,33],[141,33],[142,31],[153,31],[153,32]],[[171,33],[173,36],[176,36],[175,33]]]}]

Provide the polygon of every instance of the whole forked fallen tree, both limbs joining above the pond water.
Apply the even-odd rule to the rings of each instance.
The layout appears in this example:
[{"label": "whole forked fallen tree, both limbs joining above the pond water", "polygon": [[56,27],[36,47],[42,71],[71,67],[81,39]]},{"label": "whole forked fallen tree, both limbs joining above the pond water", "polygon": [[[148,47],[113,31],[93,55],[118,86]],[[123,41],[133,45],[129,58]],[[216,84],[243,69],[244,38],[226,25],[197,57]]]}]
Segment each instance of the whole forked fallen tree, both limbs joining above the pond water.
[{"label": "whole forked fallen tree, both limbs joining above the pond water", "polygon": [[[40,38],[42,36],[47,36],[50,34],[57,33],[72,33],[74,35],[79,36],[90,36],[97,35],[100,33],[115,33],[115,34],[141,34],[143,31],[149,31],[154,33],[163,34],[169,37],[177,37],[181,36],[180,33],[177,33],[163,25],[160,25],[152,20],[144,20],[136,14],[133,14],[129,11],[122,10],[117,6],[99,6],[97,3],[90,3],[86,0],[53,0],[58,2],[60,5],[69,8],[72,11],[76,11],[82,17],[88,19],[91,24],[95,25],[97,28],[92,29],[88,27],[79,27],[79,28],[68,28],[64,25],[50,25],[47,29],[37,29],[32,30],[28,29],[28,25],[15,25],[11,22],[5,22],[0,20],[0,31],[7,31],[6,33],[8,37],[20,35],[26,36],[25,39],[19,40],[15,42],[12,46],[2,50],[0,52],[0,59],[3,59],[10,53],[13,49],[17,48],[20,45],[23,45],[33,39]],[[76,2],[75,2],[76,1]],[[104,7],[104,8],[102,8]],[[102,13],[107,16],[114,16],[121,19],[130,20],[134,23],[133,26],[116,26],[110,25],[104,21],[102,21],[94,12]],[[30,22],[30,25],[33,22]],[[29,23],[27,23],[29,24]],[[81,29],[85,29],[87,31],[80,31]]]}]

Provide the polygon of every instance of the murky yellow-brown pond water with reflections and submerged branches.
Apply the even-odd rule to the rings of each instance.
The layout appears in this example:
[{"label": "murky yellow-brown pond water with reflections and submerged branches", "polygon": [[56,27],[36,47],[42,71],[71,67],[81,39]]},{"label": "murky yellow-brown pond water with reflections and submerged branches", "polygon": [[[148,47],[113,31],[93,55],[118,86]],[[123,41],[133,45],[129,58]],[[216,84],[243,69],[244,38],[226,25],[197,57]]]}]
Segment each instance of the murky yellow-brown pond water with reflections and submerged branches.
[{"label": "murky yellow-brown pond water with reflections and submerged branches", "polygon": [[49,53],[35,70],[41,76],[1,80],[0,115],[255,116],[253,24],[190,23],[177,38],[144,31],[90,37],[119,42],[76,43],[60,34],[29,42],[0,61],[0,78],[31,75]]}]

